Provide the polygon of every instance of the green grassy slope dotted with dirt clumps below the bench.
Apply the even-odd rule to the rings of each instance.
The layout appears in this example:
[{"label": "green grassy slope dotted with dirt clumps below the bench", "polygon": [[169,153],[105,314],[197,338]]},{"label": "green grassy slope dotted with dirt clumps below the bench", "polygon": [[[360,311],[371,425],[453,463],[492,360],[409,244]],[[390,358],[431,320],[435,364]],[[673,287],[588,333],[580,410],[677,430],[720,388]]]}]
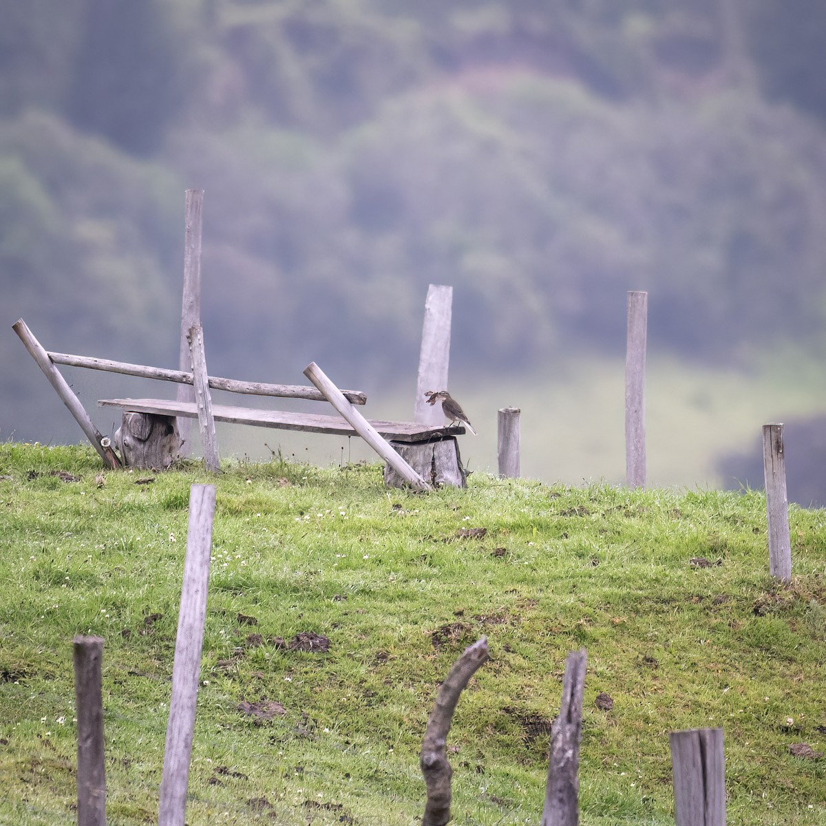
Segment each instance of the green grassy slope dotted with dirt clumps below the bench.
[{"label": "green grassy slope dotted with dirt clumps below the bench", "polygon": [[[414,824],[437,685],[482,634],[491,662],[449,739],[456,824],[538,822],[564,661],[581,647],[583,824],[673,823],[668,733],[704,726],[724,729],[729,824],[826,823],[826,760],[789,751],[826,751],[823,510],[792,508],[782,587],[755,491],[475,473],[467,491],[417,496],[387,491],[376,465],[103,472],[90,449],[12,443],[0,445],[0,823],[76,820],[75,634],[106,639],[109,822],[157,822],[195,482],[216,484],[217,505],[189,824]],[[487,534],[459,539],[468,527]],[[301,632],[330,650],[282,647]],[[284,714],[238,710],[262,700]]]}]

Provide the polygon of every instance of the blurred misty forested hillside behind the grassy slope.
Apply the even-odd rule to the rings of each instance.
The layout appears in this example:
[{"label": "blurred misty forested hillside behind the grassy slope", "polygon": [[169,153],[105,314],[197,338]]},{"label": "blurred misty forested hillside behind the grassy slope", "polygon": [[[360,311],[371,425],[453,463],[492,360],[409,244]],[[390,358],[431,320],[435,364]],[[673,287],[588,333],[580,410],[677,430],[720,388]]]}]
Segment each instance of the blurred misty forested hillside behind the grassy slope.
[{"label": "blurred misty forested hillside behind the grassy slope", "polygon": [[[826,501],[822,0],[0,0],[0,20],[0,439],[81,438],[18,317],[47,349],[177,367],[202,188],[212,374],[306,383],[315,360],[407,418],[427,285],[450,284],[472,468],[496,468],[514,405],[525,475],[621,481],[626,293],[648,290],[650,482],[762,487],[783,420],[790,498]],[[140,394],[64,373],[104,432],[97,397]]]}]

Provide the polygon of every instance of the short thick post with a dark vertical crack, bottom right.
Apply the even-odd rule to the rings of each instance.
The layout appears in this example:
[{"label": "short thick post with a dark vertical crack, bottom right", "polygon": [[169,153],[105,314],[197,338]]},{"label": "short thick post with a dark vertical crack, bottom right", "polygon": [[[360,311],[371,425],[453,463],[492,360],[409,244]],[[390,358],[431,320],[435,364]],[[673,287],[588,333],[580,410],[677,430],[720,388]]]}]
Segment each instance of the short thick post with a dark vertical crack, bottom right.
[{"label": "short thick post with a dark vertical crack, bottom right", "polygon": [[676,826],[725,826],[723,729],[674,731],[668,739]]}]

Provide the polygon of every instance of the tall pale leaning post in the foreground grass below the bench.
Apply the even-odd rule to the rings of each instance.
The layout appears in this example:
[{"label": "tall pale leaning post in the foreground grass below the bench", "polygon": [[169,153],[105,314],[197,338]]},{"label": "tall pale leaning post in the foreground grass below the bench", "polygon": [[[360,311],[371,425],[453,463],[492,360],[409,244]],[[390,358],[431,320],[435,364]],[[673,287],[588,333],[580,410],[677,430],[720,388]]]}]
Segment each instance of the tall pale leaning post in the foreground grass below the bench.
[{"label": "tall pale leaning post in the foreground grass below the bench", "polygon": [[183,564],[178,637],[172,668],[172,698],[160,784],[159,826],[183,826],[189,761],[195,733],[195,703],[201,675],[207,584],[215,515],[215,486],[192,485],[189,494],[187,556]]}]

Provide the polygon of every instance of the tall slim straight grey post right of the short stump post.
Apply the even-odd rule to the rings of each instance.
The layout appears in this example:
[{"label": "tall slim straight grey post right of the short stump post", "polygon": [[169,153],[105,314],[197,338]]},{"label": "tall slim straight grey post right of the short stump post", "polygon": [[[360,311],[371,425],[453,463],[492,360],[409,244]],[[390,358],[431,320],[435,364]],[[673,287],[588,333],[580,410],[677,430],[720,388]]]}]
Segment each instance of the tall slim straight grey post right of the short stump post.
[{"label": "tall slim straight grey post right of the short stump post", "polygon": [[645,487],[645,351],[648,292],[628,294],[625,349],[625,482]]}]

